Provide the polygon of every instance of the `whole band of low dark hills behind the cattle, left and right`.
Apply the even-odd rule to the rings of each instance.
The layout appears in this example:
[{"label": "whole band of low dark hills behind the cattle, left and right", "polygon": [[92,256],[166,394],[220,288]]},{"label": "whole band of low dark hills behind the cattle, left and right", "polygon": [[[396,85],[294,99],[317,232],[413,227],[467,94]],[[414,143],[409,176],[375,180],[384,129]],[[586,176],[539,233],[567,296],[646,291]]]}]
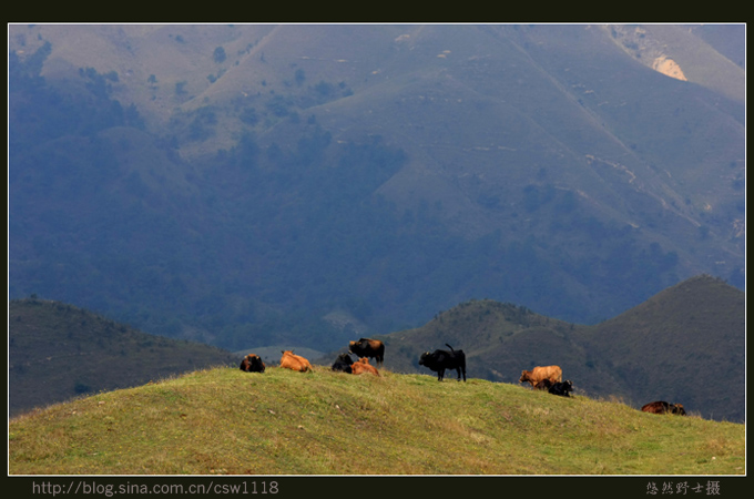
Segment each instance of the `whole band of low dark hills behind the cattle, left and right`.
[{"label": "whole band of low dark hills behind the cattle, left and right", "polygon": [[[205,367],[235,368],[240,358],[39,298],[10,303],[8,337],[11,416]],[[577,395],[636,408],[669,400],[705,419],[745,420],[745,296],[710,276],[664,289],[594,326],[472,301],[419,328],[377,337],[386,343],[385,368],[394,373],[434,375],[418,365],[421,353],[450,344],[466,353],[470,378],[518,384],[521,370],[556,364]],[[278,363],[279,348],[254,353],[267,365]],[[314,355],[305,348],[297,353]],[[327,367],[337,353],[309,359]],[[455,376],[447,375],[445,383],[456,383]]]}]

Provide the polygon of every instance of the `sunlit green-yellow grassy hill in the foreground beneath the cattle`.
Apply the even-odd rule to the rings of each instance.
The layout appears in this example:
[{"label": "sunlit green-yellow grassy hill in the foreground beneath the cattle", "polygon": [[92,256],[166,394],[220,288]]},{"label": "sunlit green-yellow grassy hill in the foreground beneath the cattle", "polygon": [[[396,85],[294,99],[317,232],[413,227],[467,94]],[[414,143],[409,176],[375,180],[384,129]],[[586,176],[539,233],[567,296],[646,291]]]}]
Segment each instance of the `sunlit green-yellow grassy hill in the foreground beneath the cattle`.
[{"label": "sunlit green-yellow grassy hill in the foreground beneath the cattle", "polygon": [[9,424],[9,472],[743,475],[744,425],[514,385],[214,368]]}]

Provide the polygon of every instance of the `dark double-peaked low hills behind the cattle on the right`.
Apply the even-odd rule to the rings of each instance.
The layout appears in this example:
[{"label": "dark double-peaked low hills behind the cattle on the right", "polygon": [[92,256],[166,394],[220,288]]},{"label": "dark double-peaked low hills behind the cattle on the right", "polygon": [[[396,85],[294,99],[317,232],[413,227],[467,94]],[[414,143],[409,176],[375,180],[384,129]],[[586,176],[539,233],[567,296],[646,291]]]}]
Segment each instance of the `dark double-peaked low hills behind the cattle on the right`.
[{"label": "dark double-peaked low hills behind the cattle on the right", "polygon": [[379,337],[386,366],[397,371],[428,373],[418,365],[421,353],[449,344],[465,352],[469,376],[516,384],[521,370],[554,364],[577,394],[619,397],[636,408],[669,400],[705,418],[743,421],[744,296],[699,276],[594,326],[472,301]]}]

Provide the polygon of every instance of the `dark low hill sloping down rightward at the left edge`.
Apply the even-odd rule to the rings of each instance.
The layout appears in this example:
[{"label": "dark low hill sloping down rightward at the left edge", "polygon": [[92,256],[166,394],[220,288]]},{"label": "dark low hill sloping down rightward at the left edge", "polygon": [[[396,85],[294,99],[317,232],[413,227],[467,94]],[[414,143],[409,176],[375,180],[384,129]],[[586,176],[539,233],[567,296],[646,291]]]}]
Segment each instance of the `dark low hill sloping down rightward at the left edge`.
[{"label": "dark low hill sloping down rightward at the left edge", "polygon": [[208,345],[147,335],[38,298],[8,305],[8,404],[17,416],[65,399],[235,363]]}]

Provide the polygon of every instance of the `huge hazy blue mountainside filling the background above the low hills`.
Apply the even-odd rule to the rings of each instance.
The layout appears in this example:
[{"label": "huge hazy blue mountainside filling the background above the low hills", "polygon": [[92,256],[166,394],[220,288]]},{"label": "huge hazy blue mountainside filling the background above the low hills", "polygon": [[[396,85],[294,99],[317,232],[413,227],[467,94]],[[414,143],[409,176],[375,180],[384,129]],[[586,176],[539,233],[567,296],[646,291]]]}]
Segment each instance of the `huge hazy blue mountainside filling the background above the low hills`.
[{"label": "huge hazy blue mountainside filling the background above the low hills", "polygon": [[744,35],[10,24],[9,295],[324,352],[469,299],[743,288]]}]

